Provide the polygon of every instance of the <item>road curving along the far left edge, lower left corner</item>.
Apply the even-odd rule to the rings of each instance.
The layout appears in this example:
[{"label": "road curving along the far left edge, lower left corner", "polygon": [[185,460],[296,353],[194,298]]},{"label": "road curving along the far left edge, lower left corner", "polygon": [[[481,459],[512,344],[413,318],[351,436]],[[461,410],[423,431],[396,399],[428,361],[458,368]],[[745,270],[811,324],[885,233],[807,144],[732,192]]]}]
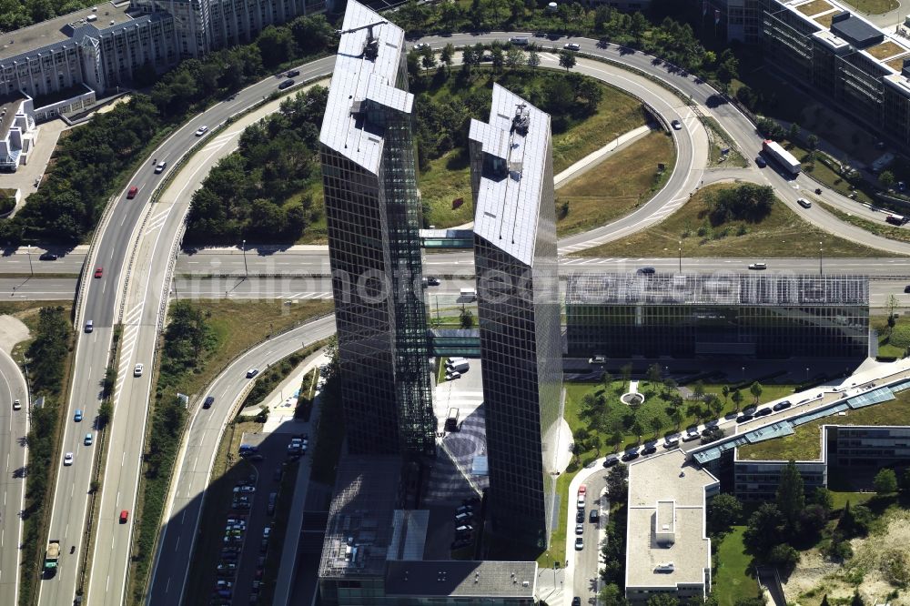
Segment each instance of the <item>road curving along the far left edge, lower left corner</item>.
[{"label": "road curving along the far left edge, lower left corner", "polygon": [[[14,410],[18,399],[22,409]],[[0,349],[0,604],[19,601],[19,546],[25,490],[28,389],[19,365]]]}]

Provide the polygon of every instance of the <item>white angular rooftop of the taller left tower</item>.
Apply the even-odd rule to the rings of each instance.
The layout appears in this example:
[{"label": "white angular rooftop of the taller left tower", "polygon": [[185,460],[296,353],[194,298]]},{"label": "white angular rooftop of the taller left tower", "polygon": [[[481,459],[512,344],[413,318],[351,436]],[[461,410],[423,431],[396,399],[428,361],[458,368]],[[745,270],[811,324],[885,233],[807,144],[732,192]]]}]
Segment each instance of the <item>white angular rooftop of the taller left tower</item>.
[{"label": "white angular rooftop of the taller left tower", "polygon": [[365,119],[369,105],[410,113],[414,104],[414,96],[396,86],[404,30],[350,0],[341,32],[319,142],[376,174],[383,139]]}]

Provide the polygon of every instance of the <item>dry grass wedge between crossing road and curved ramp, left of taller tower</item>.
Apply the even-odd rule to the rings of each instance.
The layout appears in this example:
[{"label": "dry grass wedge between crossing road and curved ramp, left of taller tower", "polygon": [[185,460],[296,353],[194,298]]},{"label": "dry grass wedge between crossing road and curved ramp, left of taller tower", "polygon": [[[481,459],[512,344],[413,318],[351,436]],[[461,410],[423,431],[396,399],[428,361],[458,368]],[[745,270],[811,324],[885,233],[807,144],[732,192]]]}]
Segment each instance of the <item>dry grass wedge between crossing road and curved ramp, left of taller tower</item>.
[{"label": "dry grass wedge between crossing road and curved ramp, left of taller tower", "polygon": [[217,339],[217,346],[198,373],[187,373],[181,378],[179,391],[190,397],[201,395],[217,374],[238,353],[263,340],[269,333],[298,326],[311,318],[329,313],[332,301],[306,301],[282,305],[281,301],[236,301],[229,299],[197,300],[193,306],[201,308],[209,317],[208,324]]}]

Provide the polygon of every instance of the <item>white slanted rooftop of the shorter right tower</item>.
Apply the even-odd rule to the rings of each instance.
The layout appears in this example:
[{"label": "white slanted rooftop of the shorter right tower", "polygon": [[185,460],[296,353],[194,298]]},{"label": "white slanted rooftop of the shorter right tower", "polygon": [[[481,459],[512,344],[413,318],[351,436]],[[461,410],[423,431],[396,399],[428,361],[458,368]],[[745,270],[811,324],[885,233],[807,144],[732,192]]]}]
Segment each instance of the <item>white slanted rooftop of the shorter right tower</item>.
[{"label": "white slanted rooftop of the shorter right tower", "polygon": [[490,122],[470,121],[483,150],[474,233],[531,265],[550,150],[550,115],[498,84]]}]

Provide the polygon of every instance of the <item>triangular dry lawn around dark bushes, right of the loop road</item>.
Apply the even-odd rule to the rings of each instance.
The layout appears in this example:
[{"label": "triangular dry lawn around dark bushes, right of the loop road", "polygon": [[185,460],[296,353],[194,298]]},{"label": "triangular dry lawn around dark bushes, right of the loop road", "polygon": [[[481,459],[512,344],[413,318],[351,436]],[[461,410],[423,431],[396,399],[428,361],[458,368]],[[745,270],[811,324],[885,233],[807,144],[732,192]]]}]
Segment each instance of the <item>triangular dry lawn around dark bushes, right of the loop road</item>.
[{"label": "triangular dry lawn around dark bushes, right of the loop road", "polygon": [[[674,257],[682,236],[683,257],[792,258],[814,257],[819,242],[825,257],[882,257],[875,248],[864,247],[814,227],[777,201],[758,222],[726,221],[711,226],[708,200],[711,192],[735,187],[717,184],[699,190],[692,199],[662,223],[622,237],[600,247],[577,253],[578,257]],[[742,236],[736,234],[744,231]],[[910,236],[910,230],[907,235]],[[703,234],[703,235],[699,235]]]}]

